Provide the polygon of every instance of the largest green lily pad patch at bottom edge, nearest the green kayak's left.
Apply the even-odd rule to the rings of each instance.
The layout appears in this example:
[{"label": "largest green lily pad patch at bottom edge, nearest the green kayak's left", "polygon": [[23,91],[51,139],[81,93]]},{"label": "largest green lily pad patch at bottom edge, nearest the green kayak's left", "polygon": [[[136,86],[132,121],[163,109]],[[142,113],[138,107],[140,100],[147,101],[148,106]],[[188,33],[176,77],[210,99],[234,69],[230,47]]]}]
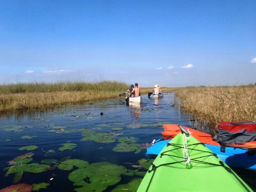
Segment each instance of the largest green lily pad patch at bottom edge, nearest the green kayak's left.
[{"label": "largest green lily pad patch at bottom edge, nearest the green kayak's left", "polygon": [[103,191],[108,186],[115,185],[121,180],[121,174],[126,172],[122,165],[115,165],[109,162],[98,162],[79,168],[71,172],[68,176],[70,181],[74,182],[76,191]]}]

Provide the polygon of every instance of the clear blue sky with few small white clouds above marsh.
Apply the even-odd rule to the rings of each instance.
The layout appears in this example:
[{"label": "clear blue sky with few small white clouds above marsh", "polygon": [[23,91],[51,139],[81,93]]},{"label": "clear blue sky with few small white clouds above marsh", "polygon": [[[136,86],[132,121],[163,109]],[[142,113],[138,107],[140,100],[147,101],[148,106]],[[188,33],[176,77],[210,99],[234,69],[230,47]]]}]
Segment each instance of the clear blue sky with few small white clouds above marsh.
[{"label": "clear blue sky with few small white clouds above marsh", "polygon": [[255,10],[254,0],[0,0],[0,84],[255,84]]}]

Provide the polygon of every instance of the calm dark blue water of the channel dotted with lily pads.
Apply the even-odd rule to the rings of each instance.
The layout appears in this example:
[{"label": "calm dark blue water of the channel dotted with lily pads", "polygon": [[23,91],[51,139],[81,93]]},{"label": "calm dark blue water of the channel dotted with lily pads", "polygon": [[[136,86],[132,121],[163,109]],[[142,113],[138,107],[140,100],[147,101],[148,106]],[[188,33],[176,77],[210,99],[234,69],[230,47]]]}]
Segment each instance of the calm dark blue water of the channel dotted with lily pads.
[{"label": "calm dark blue water of the channel dotted with lily pads", "polygon": [[[47,189],[41,187],[39,191],[74,191],[82,186],[74,185],[75,182],[71,181],[69,177],[71,172],[78,170],[78,167],[81,168],[81,165],[77,162],[69,162],[75,166],[70,170],[59,169],[57,165],[67,159],[71,161],[79,159],[89,165],[108,162],[115,166],[121,165],[127,170],[138,170],[138,161],[146,158],[145,145],[151,143],[153,139],[162,137],[163,124],[190,126],[189,119],[192,119],[189,115],[182,114],[179,109],[172,107],[174,104],[173,93],[165,93],[164,98],[161,99],[148,98],[147,95],[142,95],[142,98],[143,103],[135,106],[125,105],[124,99],[121,98],[90,105],[63,107],[47,113],[2,116],[0,125],[0,189],[19,183],[33,185],[45,182],[49,183]],[[88,133],[84,130],[93,132]],[[88,134],[91,134],[90,137]],[[102,138],[107,137],[107,139],[109,138],[106,135],[109,135],[111,142],[99,139],[99,134],[102,134]],[[135,140],[131,141],[134,139],[131,137],[134,137]],[[122,141],[122,138],[127,141]],[[136,147],[130,152],[114,151],[113,149],[121,142],[124,145],[134,142]],[[25,146],[35,146],[35,149],[21,150],[21,147]],[[63,150],[61,148],[63,146],[67,149]],[[117,150],[122,150],[122,148],[117,148]],[[26,166],[23,171],[21,165],[16,172],[13,170],[8,172],[5,169],[11,166],[7,162],[24,154],[30,154],[31,157],[29,155],[22,156],[21,164]],[[50,162],[46,163],[47,159],[51,159]],[[42,163],[42,160],[45,161]],[[70,166],[69,163],[67,164]],[[46,171],[44,171],[45,168],[43,170],[38,168],[39,171],[36,171],[37,167],[31,164],[48,165],[48,167],[45,167]],[[12,165],[18,167],[17,164]],[[28,171],[30,166],[32,172]],[[111,169],[114,168],[111,167]],[[101,172],[98,169],[94,170],[94,172]],[[145,171],[145,169],[142,167],[139,171]],[[235,171],[256,189],[254,171],[239,169]],[[9,174],[6,174],[7,172]],[[81,182],[87,184],[94,181],[93,177],[95,175],[88,177],[78,174],[78,178],[83,180]],[[109,186],[105,191],[111,191],[118,185],[130,182],[133,178],[142,178],[137,174],[129,176],[121,174],[119,177],[121,180],[117,184]],[[81,191],[90,191],[90,189],[81,189]]]}]

